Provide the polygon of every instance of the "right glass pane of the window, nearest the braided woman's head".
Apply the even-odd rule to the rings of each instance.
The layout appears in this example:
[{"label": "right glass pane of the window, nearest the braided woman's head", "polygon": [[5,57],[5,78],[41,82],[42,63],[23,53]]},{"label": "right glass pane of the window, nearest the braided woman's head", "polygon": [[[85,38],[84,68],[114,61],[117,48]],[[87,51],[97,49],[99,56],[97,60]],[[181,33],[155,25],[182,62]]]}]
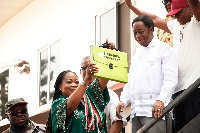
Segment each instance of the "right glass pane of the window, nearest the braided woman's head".
[{"label": "right glass pane of the window, nearest the braided woman's head", "polygon": [[50,46],[50,89],[49,100],[53,100],[54,83],[60,72],[60,40]]}]

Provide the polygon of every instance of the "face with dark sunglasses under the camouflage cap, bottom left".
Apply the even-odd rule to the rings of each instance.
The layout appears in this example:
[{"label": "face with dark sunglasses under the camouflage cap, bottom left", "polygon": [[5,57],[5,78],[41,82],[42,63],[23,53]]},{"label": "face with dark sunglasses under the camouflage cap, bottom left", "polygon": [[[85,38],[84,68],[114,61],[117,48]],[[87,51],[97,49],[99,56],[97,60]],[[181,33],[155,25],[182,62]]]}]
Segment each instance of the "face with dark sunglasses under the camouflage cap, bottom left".
[{"label": "face with dark sunglasses under the camouflage cap, bottom left", "polygon": [[27,111],[27,106],[24,103],[18,103],[11,107],[7,111],[7,118],[10,121],[10,125],[20,129],[25,128],[28,125],[29,115]]}]

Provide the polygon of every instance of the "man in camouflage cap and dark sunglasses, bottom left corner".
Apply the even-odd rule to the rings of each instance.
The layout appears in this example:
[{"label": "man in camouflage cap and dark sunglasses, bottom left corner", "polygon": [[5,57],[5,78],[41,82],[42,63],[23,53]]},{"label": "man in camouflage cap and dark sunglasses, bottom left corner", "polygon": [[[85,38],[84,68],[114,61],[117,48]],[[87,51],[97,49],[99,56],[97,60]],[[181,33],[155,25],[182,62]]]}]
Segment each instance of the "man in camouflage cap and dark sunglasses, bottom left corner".
[{"label": "man in camouflage cap and dark sunglasses, bottom left corner", "polygon": [[34,123],[29,119],[27,104],[23,98],[16,98],[6,103],[5,111],[10,127],[3,133],[43,133],[45,131],[45,125]]}]

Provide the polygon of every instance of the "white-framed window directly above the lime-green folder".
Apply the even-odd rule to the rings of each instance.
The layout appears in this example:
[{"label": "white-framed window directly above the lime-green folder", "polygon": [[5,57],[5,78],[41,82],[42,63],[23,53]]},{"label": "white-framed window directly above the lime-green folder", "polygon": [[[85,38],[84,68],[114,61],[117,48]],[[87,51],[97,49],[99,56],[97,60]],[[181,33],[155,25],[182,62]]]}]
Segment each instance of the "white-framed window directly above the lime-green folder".
[{"label": "white-framed window directly above the lime-green folder", "polygon": [[118,2],[106,4],[107,7],[99,9],[95,16],[96,45],[99,46],[106,42],[118,44]]}]

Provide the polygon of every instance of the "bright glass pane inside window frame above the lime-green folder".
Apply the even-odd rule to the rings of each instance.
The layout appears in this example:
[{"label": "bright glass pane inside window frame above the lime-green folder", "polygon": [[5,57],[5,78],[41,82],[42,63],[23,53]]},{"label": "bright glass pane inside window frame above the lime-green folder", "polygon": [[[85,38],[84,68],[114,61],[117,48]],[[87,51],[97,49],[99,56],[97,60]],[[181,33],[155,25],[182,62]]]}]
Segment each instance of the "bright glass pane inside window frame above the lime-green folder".
[{"label": "bright glass pane inside window frame above the lime-green folder", "polygon": [[100,17],[100,44],[105,43],[107,38],[108,42],[115,43],[115,23],[114,8]]}]

